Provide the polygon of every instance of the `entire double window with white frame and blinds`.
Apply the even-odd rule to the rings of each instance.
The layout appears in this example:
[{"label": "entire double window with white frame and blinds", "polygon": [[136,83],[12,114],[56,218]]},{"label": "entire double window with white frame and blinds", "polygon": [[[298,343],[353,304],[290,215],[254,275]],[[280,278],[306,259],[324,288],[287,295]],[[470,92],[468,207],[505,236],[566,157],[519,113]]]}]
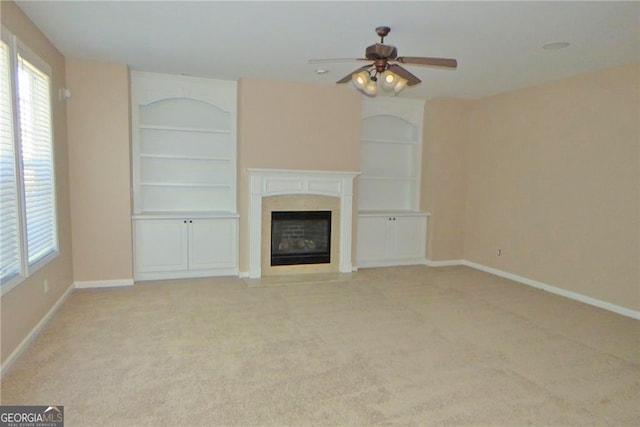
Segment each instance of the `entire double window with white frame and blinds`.
[{"label": "entire double window with white frame and blinds", "polygon": [[58,253],[51,71],[15,38],[0,43],[2,294]]}]

